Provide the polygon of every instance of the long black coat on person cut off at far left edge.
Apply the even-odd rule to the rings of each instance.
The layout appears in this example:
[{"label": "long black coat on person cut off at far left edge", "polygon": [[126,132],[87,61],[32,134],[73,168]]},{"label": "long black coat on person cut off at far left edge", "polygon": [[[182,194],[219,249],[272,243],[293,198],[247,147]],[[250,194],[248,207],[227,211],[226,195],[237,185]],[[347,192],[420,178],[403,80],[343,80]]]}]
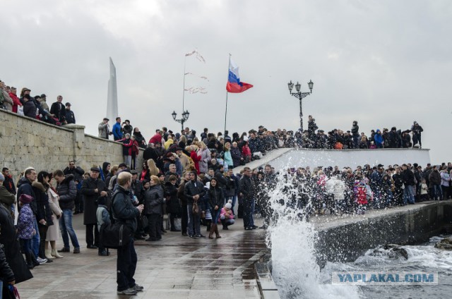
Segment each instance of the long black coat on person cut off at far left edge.
[{"label": "long black coat on person cut off at far left edge", "polygon": [[6,262],[13,270],[16,283],[32,279],[32,274],[20,253],[20,245],[16,236],[16,228],[14,227],[14,219],[11,213],[0,205],[0,244],[4,245]]}]

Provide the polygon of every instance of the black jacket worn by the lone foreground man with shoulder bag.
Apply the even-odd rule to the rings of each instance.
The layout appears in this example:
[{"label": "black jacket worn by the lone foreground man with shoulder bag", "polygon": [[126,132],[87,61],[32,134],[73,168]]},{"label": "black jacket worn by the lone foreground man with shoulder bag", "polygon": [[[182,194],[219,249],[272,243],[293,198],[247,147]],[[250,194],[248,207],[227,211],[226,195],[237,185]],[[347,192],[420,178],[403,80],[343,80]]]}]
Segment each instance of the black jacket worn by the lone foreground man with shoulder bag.
[{"label": "black jacket worn by the lone foreground man with shoulder bag", "polygon": [[138,216],[140,216],[140,211],[132,205],[131,192],[122,188],[121,185],[117,185],[117,190],[112,196],[113,219],[119,224],[125,224],[134,233],[137,228]]}]

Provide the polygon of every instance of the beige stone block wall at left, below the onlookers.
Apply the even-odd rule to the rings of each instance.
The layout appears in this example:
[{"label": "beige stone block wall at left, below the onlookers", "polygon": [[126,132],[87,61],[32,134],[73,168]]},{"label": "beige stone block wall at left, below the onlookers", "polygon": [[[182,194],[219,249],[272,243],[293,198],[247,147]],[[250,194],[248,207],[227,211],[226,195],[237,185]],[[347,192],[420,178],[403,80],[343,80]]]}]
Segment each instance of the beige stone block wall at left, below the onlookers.
[{"label": "beige stone block wall at left, below the onlookers", "polygon": [[[53,126],[4,110],[0,110],[0,123],[1,167],[8,167],[15,178],[28,166],[54,171],[74,160],[86,171],[104,161],[123,162],[121,144],[86,135],[85,126]],[[137,166],[142,164],[139,154]]]}]

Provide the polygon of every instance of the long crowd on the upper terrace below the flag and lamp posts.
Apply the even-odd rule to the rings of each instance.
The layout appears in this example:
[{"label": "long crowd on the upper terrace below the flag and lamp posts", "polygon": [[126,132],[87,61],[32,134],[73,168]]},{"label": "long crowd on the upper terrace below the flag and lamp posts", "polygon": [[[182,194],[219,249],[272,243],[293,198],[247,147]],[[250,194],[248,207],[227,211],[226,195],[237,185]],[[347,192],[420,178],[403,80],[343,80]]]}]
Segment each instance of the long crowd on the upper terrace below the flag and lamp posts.
[{"label": "long crowd on the upper terrace below the flag and lamp posts", "polygon": [[[195,165],[201,163],[201,168],[204,169],[201,172],[206,172],[207,161],[205,159],[211,153],[215,153],[216,158],[222,159],[225,162],[225,169],[228,169],[259,159],[268,151],[280,147],[335,150],[422,147],[421,134],[423,131],[419,123],[415,121],[411,130],[401,131],[396,127],[391,130],[385,128],[383,131],[377,129],[371,130],[367,137],[363,132],[359,133],[358,123],[354,121],[352,129],[347,132],[334,129],[325,134],[323,130],[318,130],[312,116],[309,116],[308,130],[304,130],[304,132],[294,133],[281,129],[270,131],[259,126],[258,130],[249,130],[248,133],[243,132],[241,135],[233,133],[232,137],[227,130],[223,135],[221,132],[209,133],[208,128],[204,128],[203,133],[196,135],[196,130],[189,128],[181,130],[180,133],[173,133],[172,130],[163,127],[161,130],[155,130],[155,135],[146,142],[139,128],[133,128],[129,120],[121,122],[120,117],[115,119],[112,130],[110,130],[108,118],[102,120],[98,129],[100,138],[109,139],[109,136],[113,135],[115,141],[123,144],[124,163],[131,166],[131,169],[136,169],[136,159],[140,148],[154,149],[152,157],[158,156],[156,163],[160,164],[168,151],[174,152],[174,149],[179,148],[191,158]],[[198,160],[196,156],[200,154],[203,154],[203,157]],[[192,155],[193,157],[191,157]],[[199,172],[199,169],[196,170]]]}]

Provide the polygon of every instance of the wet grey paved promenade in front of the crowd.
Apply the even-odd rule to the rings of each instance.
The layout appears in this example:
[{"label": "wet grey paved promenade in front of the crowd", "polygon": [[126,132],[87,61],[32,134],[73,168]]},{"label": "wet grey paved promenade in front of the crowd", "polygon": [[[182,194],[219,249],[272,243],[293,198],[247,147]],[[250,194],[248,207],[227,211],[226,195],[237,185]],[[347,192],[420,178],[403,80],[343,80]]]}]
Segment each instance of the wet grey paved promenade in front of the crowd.
[{"label": "wet grey paved promenade in front of the crowd", "polygon": [[[81,254],[66,252],[33,269],[35,277],[17,285],[20,298],[261,298],[253,265],[266,250],[265,231],[244,231],[242,219],[228,231],[220,226],[219,239],[168,231],[157,243],[136,241],[134,277],[144,286],[136,296],[117,295],[116,250],[98,256],[86,248],[83,216],[74,215],[73,224]],[[201,229],[207,236],[206,226]]]}]

